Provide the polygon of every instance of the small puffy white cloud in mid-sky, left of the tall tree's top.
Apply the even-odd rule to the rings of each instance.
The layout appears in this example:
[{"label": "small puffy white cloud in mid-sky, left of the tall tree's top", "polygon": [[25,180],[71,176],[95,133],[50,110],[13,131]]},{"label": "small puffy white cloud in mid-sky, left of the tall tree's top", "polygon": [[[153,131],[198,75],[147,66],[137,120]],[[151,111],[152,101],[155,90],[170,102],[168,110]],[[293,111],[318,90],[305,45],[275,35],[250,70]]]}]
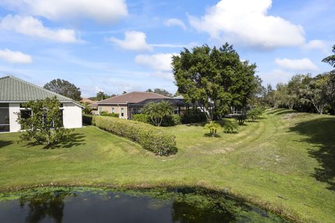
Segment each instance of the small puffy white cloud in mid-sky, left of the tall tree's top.
[{"label": "small puffy white cloud in mid-sky, left of the tall tree's top", "polygon": [[119,45],[123,49],[130,49],[136,51],[152,50],[152,47],[147,44],[145,33],[137,31],[127,31],[124,40],[117,38],[109,38],[112,43]]}]

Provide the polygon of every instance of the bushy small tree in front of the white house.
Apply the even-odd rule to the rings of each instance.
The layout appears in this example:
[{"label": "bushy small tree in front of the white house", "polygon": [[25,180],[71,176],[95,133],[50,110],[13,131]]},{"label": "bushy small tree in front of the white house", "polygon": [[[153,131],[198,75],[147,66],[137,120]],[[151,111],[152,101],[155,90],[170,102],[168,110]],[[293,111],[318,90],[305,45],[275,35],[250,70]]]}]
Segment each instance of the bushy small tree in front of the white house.
[{"label": "bushy small tree in front of the white house", "polygon": [[31,110],[33,115],[23,118],[21,113],[18,113],[17,122],[23,130],[20,141],[34,139],[37,144],[52,146],[66,139],[70,134],[70,130],[63,127],[60,103],[56,97],[29,101],[24,103],[23,107]]}]

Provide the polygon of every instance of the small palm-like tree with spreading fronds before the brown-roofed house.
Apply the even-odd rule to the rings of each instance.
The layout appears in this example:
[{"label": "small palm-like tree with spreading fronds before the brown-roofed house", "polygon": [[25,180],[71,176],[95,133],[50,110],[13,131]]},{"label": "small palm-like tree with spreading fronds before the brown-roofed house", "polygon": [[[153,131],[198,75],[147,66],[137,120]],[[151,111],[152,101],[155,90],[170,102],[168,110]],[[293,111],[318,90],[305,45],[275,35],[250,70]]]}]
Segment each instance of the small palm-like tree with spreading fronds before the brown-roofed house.
[{"label": "small palm-like tree with spreading fronds before the brown-roofed house", "polygon": [[173,114],[173,108],[167,101],[151,102],[144,106],[143,113],[149,115],[156,126],[161,126],[163,118]]}]

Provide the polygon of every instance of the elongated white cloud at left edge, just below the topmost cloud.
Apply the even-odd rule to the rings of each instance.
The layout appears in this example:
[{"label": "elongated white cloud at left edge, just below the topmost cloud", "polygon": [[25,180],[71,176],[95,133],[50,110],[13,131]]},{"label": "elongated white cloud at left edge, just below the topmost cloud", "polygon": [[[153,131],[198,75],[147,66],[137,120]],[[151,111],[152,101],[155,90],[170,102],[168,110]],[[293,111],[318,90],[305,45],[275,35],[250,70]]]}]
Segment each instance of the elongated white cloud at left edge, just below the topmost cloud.
[{"label": "elongated white cloud at left edge, just below the topmost cloud", "polygon": [[43,26],[40,20],[31,16],[7,15],[1,20],[0,29],[62,43],[75,43],[80,41],[77,39],[73,29],[50,29]]}]

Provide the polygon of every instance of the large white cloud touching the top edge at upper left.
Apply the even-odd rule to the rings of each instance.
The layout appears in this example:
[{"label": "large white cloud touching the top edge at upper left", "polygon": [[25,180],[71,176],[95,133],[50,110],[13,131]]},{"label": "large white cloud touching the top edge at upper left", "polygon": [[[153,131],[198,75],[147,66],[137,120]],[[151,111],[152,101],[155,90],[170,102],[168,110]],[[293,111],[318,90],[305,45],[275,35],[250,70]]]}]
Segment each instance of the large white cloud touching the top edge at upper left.
[{"label": "large white cloud touching the top edge at upper left", "polygon": [[98,22],[115,22],[128,15],[125,0],[2,0],[0,5],[52,21],[89,18]]}]

